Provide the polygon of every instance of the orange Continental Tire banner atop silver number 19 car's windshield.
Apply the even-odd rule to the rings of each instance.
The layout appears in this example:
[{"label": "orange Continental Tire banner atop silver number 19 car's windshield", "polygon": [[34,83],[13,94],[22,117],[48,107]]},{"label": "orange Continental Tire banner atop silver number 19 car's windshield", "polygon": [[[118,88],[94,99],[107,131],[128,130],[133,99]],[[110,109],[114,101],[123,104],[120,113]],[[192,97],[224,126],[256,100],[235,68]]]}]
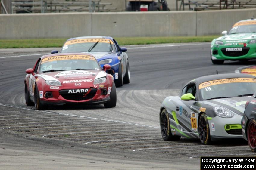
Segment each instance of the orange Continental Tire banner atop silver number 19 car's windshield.
[{"label": "orange Continental Tire banner atop silver number 19 car's windshield", "polygon": [[203,82],[199,85],[199,89],[205,88],[212,85],[219,85],[225,83],[239,83],[239,82],[253,82],[256,83],[256,79],[252,78],[232,78],[232,79],[219,79],[219,80],[212,80],[209,82]]}]

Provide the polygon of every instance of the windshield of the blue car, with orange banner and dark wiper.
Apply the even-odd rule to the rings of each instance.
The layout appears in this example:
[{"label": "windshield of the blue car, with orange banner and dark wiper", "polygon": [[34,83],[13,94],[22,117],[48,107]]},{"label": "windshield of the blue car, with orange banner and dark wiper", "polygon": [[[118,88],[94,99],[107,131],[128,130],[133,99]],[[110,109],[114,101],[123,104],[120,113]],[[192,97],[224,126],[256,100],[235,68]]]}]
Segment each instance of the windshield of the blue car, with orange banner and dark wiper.
[{"label": "windshield of the blue car, with orange banner and dark wiper", "polygon": [[110,39],[75,39],[65,42],[61,53],[70,52],[116,52]]}]

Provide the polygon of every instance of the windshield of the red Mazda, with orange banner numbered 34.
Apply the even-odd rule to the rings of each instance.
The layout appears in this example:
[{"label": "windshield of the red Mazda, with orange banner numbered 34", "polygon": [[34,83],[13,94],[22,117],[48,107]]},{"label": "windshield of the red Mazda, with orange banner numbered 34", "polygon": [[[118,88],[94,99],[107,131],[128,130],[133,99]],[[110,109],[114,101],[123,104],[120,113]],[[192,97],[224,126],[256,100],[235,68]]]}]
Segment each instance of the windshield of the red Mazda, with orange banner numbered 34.
[{"label": "windshield of the red Mazda, with orange banner numbered 34", "polygon": [[39,72],[64,70],[101,70],[101,66],[89,55],[64,55],[44,58]]}]

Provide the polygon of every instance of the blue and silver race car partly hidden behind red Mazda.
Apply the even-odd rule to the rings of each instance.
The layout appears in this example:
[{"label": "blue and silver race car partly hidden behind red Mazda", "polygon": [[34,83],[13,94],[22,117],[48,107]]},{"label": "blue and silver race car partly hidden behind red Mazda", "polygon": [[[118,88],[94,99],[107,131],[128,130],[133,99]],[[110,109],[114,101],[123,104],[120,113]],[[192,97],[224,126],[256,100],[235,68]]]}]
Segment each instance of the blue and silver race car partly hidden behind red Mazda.
[{"label": "blue and silver race car partly hidden behind red Mazda", "polygon": [[[92,54],[101,67],[109,64],[108,73],[114,77],[116,86],[130,83],[130,68],[126,48],[120,48],[115,39],[105,36],[84,36],[68,39],[61,53],[86,52]],[[58,51],[53,50],[53,53]]]}]

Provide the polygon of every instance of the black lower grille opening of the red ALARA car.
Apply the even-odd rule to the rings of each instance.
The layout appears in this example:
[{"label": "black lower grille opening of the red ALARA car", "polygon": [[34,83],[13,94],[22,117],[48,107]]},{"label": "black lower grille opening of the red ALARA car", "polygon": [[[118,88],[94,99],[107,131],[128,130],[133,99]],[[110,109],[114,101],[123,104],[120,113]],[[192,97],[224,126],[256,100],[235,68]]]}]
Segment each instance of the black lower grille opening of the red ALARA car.
[{"label": "black lower grille opening of the red ALARA car", "polygon": [[[76,89],[74,89],[76,90]],[[88,100],[91,99],[95,96],[97,89],[96,88],[90,88],[90,90],[87,93],[70,93],[68,94],[69,90],[60,90],[59,93],[60,95],[66,99],[66,100],[75,100],[75,101],[80,101],[80,100]],[[87,94],[86,96],[84,94]]]}]

